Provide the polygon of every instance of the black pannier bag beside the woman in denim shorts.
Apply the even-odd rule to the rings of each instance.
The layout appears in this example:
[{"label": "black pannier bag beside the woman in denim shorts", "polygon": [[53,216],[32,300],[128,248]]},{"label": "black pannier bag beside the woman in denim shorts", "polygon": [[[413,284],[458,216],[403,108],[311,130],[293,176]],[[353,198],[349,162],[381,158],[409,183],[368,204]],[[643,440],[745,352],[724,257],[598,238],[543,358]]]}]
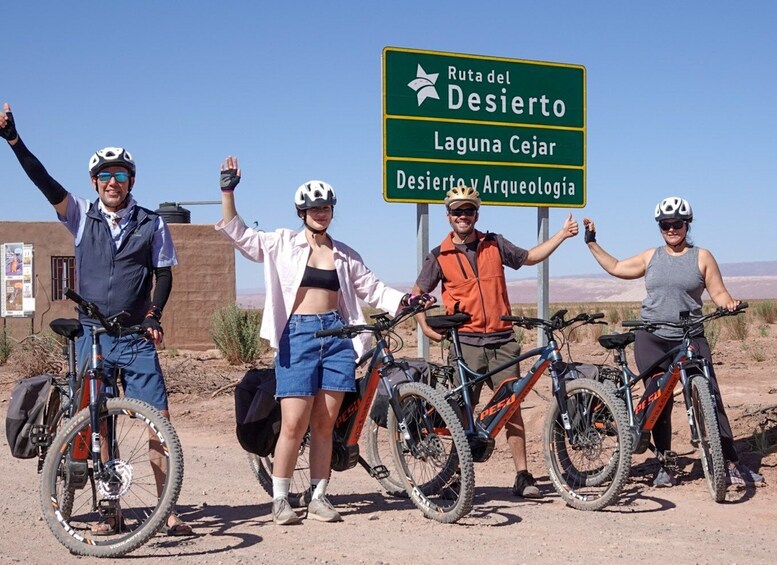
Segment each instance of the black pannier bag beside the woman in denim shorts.
[{"label": "black pannier bag beside the woman in denim shorts", "polygon": [[275,449],[281,433],[281,406],[275,400],[275,371],[251,369],[235,388],[236,434],[240,446],[261,457]]}]

